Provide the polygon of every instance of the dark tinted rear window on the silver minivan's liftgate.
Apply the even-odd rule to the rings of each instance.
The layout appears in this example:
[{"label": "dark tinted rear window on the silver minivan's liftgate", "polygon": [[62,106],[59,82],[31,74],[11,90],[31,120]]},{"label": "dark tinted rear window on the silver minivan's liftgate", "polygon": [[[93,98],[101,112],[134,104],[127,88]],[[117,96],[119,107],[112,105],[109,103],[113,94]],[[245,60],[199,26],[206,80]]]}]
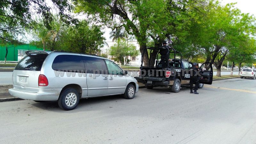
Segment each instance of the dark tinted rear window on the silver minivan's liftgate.
[{"label": "dark tinted rear window on the silver minivan's liftgate", "polygon": [[44,63],[44,60],[47,56],[48,54],[33,54],[33,55],[25,56],[16,65],[14,70],[40,71]]}]

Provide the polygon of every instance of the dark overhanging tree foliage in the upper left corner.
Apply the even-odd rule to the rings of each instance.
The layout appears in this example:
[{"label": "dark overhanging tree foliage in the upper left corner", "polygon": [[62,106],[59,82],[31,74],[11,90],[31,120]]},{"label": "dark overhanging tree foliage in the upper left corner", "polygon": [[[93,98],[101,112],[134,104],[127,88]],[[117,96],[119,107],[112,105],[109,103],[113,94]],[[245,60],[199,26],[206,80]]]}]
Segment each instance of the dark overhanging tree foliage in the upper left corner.
[{"label": "dark overhanging tree foliage in the upper left corner", "polygon": [[[60,19],[66,23],[76,23],[76,19],[66,13],[73,9],[68,0],[52,0],[52,4],[58,9]],[[53,21],[51,13],[52,4],[45,0],[4,0],[0,2],[0,16],[2,19],[8,19],[14,25],[33,29],[36,14],[40,15],[47,28]],[[1,31],[1,30],[0,30]]]}]

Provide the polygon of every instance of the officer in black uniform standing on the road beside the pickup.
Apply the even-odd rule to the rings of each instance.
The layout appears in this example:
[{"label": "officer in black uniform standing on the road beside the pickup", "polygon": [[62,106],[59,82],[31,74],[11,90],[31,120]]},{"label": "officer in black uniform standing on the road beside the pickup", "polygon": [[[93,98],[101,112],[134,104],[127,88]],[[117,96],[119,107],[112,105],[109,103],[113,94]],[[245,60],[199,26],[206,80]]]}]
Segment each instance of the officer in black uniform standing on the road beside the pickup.
[{"label": "officer in black uniform standing on the road beside the pickup", "polygon": [[[198,75],[195,76],[196,73],[199,71],[198,67],[196,68],[196,65],[197,65],[197,63],[194,62],[192,64],[192,67],[190,68],[190,70],[192,70],[192,73],[191,73],[192,76],[190,74],[190,82],[189,82],[189,84],[190,84],[190,93],[199,94],[198,92],[196,92],[197,89],[198,89],[198,85],[199,85]],[[195,84],[195,91],[194,92],[193,92],[193,84]]]}]

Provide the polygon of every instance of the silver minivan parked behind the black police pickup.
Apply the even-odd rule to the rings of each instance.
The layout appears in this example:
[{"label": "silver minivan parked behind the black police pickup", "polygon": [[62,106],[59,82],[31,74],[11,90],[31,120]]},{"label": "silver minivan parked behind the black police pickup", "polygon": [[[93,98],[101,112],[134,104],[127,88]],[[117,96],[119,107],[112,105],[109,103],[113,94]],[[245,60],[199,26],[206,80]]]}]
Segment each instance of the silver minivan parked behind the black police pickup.
[{"label": "silver minivan parked behind the black police pickup", "polygon": [[13,70],[12,96],[41,101],[58,101],[72,110],[80,99],[123,94],[132,99],[139,90],[136,79],[116,63],[103,57],[50,51],[26,51]]}]

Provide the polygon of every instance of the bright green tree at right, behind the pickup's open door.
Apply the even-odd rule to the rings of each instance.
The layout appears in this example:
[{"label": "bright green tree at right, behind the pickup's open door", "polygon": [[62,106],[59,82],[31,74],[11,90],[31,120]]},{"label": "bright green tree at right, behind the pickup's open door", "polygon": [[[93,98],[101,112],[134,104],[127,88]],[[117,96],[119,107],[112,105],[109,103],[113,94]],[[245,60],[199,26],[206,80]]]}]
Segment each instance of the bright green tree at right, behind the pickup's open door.
[{"label": "bright green tree at right, behind the pickup's open door", "polygon": [[216,76],[221,76],[221,65],[228,52],[255,34],[255,19],[241,13],[234,4],[221,6],[218,1],[211,3],[206,12],[199,29],[200,45],[206,53],[205,62],[211,62],[217,68]]}]

